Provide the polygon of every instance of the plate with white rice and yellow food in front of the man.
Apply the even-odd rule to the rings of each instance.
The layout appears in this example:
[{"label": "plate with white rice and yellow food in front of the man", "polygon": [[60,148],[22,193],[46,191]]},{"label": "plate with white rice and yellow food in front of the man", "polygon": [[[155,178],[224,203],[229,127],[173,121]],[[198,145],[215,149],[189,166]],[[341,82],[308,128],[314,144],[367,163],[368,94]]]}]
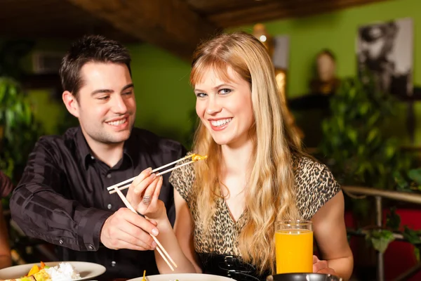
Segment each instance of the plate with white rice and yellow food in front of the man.
[{"label": "plate with white rice and yellow food in front of the man", "polygon": [[0,281],[81,281],[105,273],[105,266],[84,261],[28,263],[0,270]]}]

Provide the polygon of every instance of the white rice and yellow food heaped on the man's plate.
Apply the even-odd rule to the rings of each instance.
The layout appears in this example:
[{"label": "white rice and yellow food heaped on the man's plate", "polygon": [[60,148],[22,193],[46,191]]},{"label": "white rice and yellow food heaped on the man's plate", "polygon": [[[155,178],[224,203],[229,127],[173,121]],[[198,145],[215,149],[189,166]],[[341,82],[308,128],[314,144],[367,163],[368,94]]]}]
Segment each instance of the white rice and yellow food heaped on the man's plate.
[{"label": "white rice and yellow food heaped on the man's plate", "polygon": [[77,280],[81,277],[70,263],[59,263],[53,267],[46,266],[42,261],[40,264],[41,266],[32,266],[25,276],[0,281],[62,281]]}]

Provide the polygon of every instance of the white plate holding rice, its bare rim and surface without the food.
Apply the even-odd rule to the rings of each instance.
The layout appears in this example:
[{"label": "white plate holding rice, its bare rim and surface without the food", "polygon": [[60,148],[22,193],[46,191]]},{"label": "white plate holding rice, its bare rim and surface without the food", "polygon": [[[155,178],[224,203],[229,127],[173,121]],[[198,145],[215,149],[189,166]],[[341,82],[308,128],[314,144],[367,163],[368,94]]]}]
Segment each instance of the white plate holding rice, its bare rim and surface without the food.
[{"label": "white plate holding rice, its bare rim and surface without the food", "polygon": [[[74,270],[79,272],[80,278],[74,280],[87,280],[97,277],[102,273],[105,273],[105,266],[101,266],[98,263],[86,263],[84,261],[51,261],[45,263],[46,266],[57,266],[59,263],[65,262],[70,263]],[[27,263],[21,266],[11,266],[10,268],[0,269],[0,279],[16,279],[27,275],[34,265],[41,266],[41,263]],[[168,281],[168,280],[167,280]]]}]

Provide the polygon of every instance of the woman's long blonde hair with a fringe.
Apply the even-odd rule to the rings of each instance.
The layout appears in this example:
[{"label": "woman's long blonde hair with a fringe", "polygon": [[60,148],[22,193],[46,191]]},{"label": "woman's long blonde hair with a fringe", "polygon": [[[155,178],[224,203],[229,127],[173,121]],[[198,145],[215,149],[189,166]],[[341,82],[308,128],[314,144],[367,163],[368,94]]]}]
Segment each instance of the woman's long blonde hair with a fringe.
[{"label": "woman's long blonde hair with a fringe", "polygon": [[[213,69],[220,79],[229,81],[228,67],[250,83],[255,124],[250,129],[255,148],[253,163],[245,189],[246,225],[239,234],[238,247],[243,261],[274,272],[274,231],[279,219],[299,218],[295,202],[292,154],[301,152],[299,136],[285,124],[285,105],[276,86],[272,60],[258,39],[244,32],[220,34],[196,49],[190,82],[203,79]],[[213,141],[203,124],[199,124],[194,152],[210,155],[195,165],[197,210],[205,230],[215,215],[216,197],[220,197],[218,178],[220,145]],[[205,231],[206,233],[206,231]]]}]

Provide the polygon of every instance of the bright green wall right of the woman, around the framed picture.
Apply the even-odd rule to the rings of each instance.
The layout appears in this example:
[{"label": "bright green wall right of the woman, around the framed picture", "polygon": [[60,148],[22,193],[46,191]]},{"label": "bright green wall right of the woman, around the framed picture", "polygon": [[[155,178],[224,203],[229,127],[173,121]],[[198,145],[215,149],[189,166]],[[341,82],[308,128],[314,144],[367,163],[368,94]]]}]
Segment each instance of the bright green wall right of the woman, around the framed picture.
[{"label": "bright green wall right of the woman, around the framed picture", "polygon": [[[394,0],[365,6],[356,6],[342,11],[325,13],[307,18],[274,20],[262,22],[269,34],[288,35],[290,55],[288,69],[288,97],[301,96],[309,92],[308,82],[312,78],[312,66],[316,53],[323,48],[330,48],[337,59],[338,77],[356,74],[356,35],[360,25],[376,21],[413,18],[414,25],[414,85],[421,85],[421,1]],[[253,25],[233,30],[250,32]],[[421,103],[415,103],[415,122],[421,128]],[[389,126],[389,134],[399,136],[406,145],[421,145],[421,129],[415,131],[415,141],[410,143],[406,130],[406,103],[399,104],[399,116]],[[318,126],[320,112],[313,110],[309,114],[294,112],[298,124],[311,128]],[[306,130],[307,131],[307,130]],[[308,140],[308,143],[312,143]]]}]

